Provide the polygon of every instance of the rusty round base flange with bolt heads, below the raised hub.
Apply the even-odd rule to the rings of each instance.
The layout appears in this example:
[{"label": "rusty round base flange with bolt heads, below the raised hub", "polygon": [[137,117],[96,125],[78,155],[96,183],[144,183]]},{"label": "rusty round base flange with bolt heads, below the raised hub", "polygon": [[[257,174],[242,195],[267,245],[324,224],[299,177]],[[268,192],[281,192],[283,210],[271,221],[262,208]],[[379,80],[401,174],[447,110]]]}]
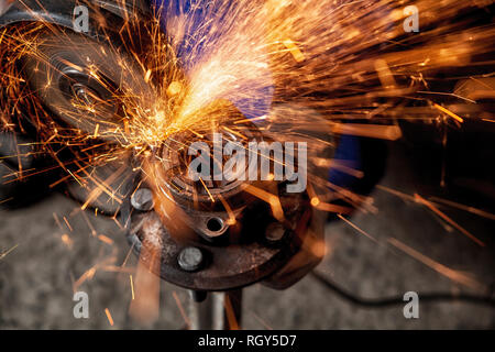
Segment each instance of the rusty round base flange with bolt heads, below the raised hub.
[{"label": "rusty round base flange with bolt heads, below the raised hub", "polygon": [[[206,240],[196,228],[187,234],[170,233],[157,212],[132,212],[129,199],[121,209],[121,223],[128,227],[129,241],[141,253],[141,261],[151,263],[146,253],[160,253],[162,265],[155,274],[163,279],[194,290],[228,290],[273,275],[299,251],[310,217],[304,216],[308,209],[306,195],[296,199],[300,202],[298,207],[283,204],[287,210],[299,208],[299,211],[287,212],[290,217],[282,224],[285,235],[275,244],[266,239],[265,230],[276,220],[270,207],[255,199],[250,199],[237,226],[228,227],[220,242]],[[277,237],[278,233],[274,235]],[[150,250],[141,251],[142,246]],[[191,246],[201,252],[198,263],[189,263],[197,255],[185,255],[184,251],[190,251]]]}]

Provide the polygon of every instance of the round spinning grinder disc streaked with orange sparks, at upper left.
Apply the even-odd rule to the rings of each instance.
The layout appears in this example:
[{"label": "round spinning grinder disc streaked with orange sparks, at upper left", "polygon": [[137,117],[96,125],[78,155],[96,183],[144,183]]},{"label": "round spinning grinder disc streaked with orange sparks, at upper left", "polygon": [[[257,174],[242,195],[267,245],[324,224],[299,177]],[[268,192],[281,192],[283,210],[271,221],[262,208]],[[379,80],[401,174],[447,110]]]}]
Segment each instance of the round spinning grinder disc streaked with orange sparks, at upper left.
[{"label": "round spinning grinder disc streaked with orange sparks, at upper left", "polygon": [[141,107],[152,102],[142,69],[111,43],[50,31],[35,42],[23,72],[45,107],[69,128],[92,133],[98,124],[100,138],[116,138],[110,131],[122,124],[121,97],[136,97]]}]

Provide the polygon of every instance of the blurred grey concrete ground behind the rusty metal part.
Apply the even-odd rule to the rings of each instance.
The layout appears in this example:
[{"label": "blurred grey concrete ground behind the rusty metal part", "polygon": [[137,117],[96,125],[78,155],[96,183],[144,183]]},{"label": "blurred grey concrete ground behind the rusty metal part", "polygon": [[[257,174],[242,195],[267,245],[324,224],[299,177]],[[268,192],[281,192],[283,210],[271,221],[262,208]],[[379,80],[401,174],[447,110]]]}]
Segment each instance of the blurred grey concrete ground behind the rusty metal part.
[{"label": "blurred grey concrete ground behind the rusty metal part", "polygon": [[[407,194],[422,191],[418,184],[420,170],[415,169],[403,151],[394,151],[391,163],[382,185]],[[481,295],[493,286],[493,221],[442,208],[486,242],[486,246],[481,248],[420,205],[382,189],[376,189],[372,196],[378,213],[358,213],[352,222],[376,242],[346,223],[329,224],[326,234],[329,254],[318,267],[320,273],[364,298],[385,298],[408,290],[418,292],[420,298],[429,293]],[[136,258],[131,255],[127,262],[125,268],[130,272],[112,272],[111,266],[120,266],[127,257],[125,240],[112,220],[82,215],[77,208],[72,200],[55,195],[28,209],[0,212],[0,253],[15,246],[0,260],[0,329],[144,327],[128,315],[131,301],[129,275]],[[72,231],[64,224],[64,217]],[[96,229],[96,237],[91,234],[91,228]],[[69,237],[70,246],[62,241],[64,233]],[[100,234],[111,239],[113,244],[99,240]],[[449,268],[471,275],[477,283],[474,285],[483,287],[473,289],[447,278],[391,245],[389,239],[396,239],[399,242],[393,243],[403,243]],[[101,264],[102,261],[107,262]],[[100,265],[95,276],[80,286],[89,295],[90,318],[75,319],[73,284],[97,263]],[[185,321],[174,293],[182,306],[186,304],[186,293],[165,283],[161,285],[160,319],[152,328],[180,329]],[[106,308],[114,320],[113,328],[109,326]],[[407,320],[403,306],[362,308],[307,276],[285,292],[261,285],[248,288],[243,326],[248,329],[493,329],[495,310],[462,301],[420,301],[419,319]]]}]

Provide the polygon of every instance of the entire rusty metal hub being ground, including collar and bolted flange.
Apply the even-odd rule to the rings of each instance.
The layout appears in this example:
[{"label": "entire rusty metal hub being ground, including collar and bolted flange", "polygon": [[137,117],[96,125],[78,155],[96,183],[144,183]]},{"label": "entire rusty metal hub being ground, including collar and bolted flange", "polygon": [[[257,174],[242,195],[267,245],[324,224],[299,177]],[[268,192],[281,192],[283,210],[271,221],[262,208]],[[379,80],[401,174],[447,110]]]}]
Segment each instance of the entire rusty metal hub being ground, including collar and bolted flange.
[{"label": "entire rusty metal hub being ground, including collar and bolted flange", "polygon": [[[223,116],[226,121],[235,121],[242,118],[234,116],[240,112],[229,102],[216,107],[213,112],[207,111],[212,112],[211,119]],[[242,131],[249,134],[248,139],[271,141],[253,123],[246,122]],[[228,141],[245,143],[235,134],[223,135],[222,146]],[[140,260],[151,266],[152,256],[147,253],[154,253],[153,256],[160,253],[162,265],[155,273],[193,290],[220,292],[265,279],[270,283],[270,277],[277,273],[283,273],[277,288],[286,288],[287,283],[301,278],[321,260],[308,251],[316,241],[312,231],[308,231],[312,229],[315,209],[307,193],[287,194],[287,182],[277,180],[212,180],[205,187],[188,177],[187,166],[191,161],[182,143],[198,139],[207,144],[215,143],[211,129],[169,139],[162,151],[156,151],[156,156],[151,156],[157,160],[148,163],[153,165],[153,185],[146,186],[141,176],[136,177],[135,187],[148,187],[155,193],[153,211],[132,211],[130,199],[121,208],[121,223],[129,229],[129,240],[140,253]],[[215,169],[211,172],[215,175]],[[277,220],[271,206],[248,191],[248,186],[277,197],[284,219]],[[164,206],[164,202],[169,205]],[[322,237],[323,231],[318,235]],[[140,251],[143,246],[146,251]],[[293,274],[297,278],[287,279]]]}]

